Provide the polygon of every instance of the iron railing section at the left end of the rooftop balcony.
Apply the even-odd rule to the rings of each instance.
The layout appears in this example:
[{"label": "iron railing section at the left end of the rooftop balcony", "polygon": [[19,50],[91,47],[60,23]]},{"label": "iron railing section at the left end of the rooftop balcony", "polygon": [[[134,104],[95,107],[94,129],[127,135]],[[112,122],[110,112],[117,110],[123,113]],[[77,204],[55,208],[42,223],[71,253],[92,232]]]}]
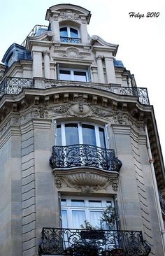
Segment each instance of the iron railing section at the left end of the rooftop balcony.
[{"label": "iron railing section at the left end of the rooftop balcony", "polygon": [[34,81],[30,78],[7,77],[0,85],[0,97],[4,94],[19,94],[23,88],[33,88]]}]

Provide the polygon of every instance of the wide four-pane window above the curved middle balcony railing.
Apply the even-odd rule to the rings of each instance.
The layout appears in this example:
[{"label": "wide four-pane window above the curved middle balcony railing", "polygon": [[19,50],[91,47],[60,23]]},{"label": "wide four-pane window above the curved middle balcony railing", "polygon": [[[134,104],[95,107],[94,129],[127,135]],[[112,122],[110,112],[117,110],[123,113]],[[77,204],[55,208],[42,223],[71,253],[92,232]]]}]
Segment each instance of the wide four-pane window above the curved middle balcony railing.
[{"label": "wide four-pane window above the curved middle balcony railing", "polygon": [[105,132],[99,125],[69,122],[57,125],[57,145],[87,144],[106,148]]}]

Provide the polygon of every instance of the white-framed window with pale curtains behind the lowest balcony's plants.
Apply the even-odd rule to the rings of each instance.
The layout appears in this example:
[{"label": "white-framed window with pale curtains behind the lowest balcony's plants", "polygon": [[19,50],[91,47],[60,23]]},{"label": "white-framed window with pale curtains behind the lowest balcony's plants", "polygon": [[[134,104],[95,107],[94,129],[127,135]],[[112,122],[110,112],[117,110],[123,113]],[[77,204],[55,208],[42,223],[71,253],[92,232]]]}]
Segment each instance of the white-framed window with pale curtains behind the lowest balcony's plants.
[{"label": "white-framed window with pale curtains behind the lowest balcony's plants", "polygon": [[62,197],[62,227],[80,229],[87,220],[94,227],[106,229],[100,218],[108,205],[114,207],[113,198]]}]

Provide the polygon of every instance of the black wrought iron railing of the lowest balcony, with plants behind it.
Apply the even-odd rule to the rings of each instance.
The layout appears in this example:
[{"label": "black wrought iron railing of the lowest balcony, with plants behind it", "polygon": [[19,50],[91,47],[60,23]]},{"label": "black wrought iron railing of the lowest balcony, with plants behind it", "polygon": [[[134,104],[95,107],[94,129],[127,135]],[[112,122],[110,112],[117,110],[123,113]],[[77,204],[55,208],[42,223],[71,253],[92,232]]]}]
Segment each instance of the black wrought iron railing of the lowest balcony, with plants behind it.
[{"label": "black wrought iron railing of the lowest balcony, with plants behind it", "polygon": [[39,255],[148,256],[141,231],[43,227]]}]

